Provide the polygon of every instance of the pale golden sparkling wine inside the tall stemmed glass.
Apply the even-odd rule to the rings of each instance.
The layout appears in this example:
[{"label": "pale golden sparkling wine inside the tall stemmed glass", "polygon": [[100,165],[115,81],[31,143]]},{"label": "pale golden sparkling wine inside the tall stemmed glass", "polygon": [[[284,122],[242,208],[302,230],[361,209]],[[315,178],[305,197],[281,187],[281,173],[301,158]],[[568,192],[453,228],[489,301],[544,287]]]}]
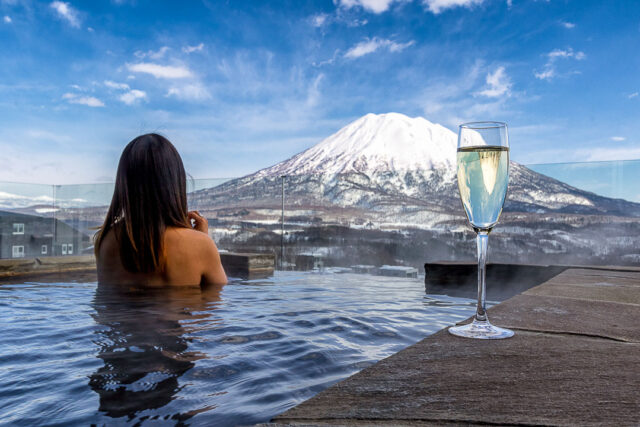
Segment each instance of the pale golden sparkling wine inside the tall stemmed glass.
[{"label": "pale golden sparkling wine inside the tall stemmed glass", "polygon": [[509,148],[458,149],[458,189],[469,222],[476,231],[498,222],[509,184]]}]

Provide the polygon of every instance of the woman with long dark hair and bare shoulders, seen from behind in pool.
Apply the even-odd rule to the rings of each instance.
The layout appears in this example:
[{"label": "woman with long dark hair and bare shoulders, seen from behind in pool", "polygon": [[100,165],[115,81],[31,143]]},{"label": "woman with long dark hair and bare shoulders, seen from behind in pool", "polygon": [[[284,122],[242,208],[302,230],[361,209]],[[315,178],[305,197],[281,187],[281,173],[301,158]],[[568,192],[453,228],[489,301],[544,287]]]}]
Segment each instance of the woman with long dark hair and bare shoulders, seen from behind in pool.
[{"label": "woman with long dark hair and bare shoulders, seen from behind in pool", "polygon": [[98,282],[227,283],[206,218],[187,212],[186,181],[182,159],[166,138],[142,135],[125,147],[111,206],[95,236]]}]

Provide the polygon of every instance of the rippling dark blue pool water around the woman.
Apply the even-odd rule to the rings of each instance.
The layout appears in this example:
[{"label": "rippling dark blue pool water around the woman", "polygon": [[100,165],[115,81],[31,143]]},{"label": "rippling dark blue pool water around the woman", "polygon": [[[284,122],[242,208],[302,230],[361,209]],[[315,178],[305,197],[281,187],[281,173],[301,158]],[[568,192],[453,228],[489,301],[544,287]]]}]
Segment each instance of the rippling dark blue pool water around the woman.
[{"label": "rippling dark blue pool water around the woman", "polygon": [[0,424],[250,425],[473,315],[420,279],[0,285]]}]

